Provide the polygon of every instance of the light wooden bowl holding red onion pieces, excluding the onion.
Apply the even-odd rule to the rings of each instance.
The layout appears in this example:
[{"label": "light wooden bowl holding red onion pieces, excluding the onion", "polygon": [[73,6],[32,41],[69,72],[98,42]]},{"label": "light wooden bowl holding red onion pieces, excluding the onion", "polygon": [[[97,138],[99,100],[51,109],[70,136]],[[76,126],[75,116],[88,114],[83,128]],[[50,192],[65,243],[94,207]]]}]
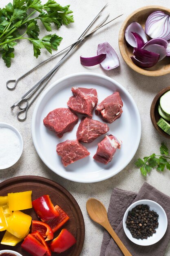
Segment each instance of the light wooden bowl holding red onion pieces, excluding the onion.
[{"label": "light wooden bowl holding red onion pieces, excluding the onion", "polygon": [[133,13],[131,13],[126,18],[119,32],[119,49],[120,49],[121,56],[124,58],[124,61],[128,64],[128,66],[132,68],[132,70],[135,70],[136,72],[143,74],[145,76],[163,76],[165,74],[170,73],[170,57],[165,57],[163,60],[159,61],[155,66],[147,69],[138,67],[130,59],[130,56],[132,56],[132,53],[133,53],[133,47],[128,45],[124,34],[128,25],[130,25],[130,23],[132,23],[133,21],[138,22],[144,28],[145,22],[148,16],[152,12],[158,11],[158,10],[163,11],[166,14],[170,15],[170,9],[166,7],[157,6],[157,5],[142,7],[140,9],[137,9]]}]

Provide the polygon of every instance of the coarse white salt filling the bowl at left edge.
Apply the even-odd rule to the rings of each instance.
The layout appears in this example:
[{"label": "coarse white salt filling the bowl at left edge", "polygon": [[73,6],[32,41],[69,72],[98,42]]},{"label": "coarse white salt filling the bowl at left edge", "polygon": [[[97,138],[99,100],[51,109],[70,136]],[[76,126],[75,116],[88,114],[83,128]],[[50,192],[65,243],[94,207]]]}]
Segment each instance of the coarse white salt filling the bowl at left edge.
[{"label": "coarse white salt filling the bowl at left edge", "polygon": [[0,128],[0,168],[15,164],[20,156],[20,140],[9,128]]}]

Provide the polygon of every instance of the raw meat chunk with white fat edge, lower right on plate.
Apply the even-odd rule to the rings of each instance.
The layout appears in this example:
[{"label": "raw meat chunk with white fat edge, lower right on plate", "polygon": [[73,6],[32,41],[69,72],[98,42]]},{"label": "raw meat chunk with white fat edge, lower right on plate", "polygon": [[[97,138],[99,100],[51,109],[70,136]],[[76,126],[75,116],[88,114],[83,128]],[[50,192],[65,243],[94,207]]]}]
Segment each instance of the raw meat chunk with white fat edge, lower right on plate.
[{"label": "raw meat chunk with white fat edge, lower right on plate", "polygon": [[98,143],[98,148],[96,154],[93,156],[93,158],[102,164],[108,164],[112,158],[113,155],[116,152],[117,148],[121,148],[122,141],[117,139],[113,135],[106,135],[105,138]]}]

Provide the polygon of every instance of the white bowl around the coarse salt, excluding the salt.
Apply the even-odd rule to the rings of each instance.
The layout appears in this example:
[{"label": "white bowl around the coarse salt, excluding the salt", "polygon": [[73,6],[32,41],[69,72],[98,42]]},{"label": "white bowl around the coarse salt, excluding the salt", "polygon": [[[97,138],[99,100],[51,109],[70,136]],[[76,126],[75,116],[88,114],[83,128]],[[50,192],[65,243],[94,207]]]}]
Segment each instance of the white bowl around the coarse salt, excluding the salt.
[{"label": "white bowl around the coarse salt, excluding the salt", "polygon": [[20,132],[15,127],[11,126],[10,124],[0,123],[0,128],[11,129],[13,132],[15,132],[15,134],[17,135],[17,137],[20,141],[20,153],[18,154],[18,157],[16,157],[15,160],[13,162],[11,162],[10,164],[0,166],[0,170],[2,170],[2,169],[9,168],[9,167],[13,166],[16,162],[18,162],[18,160],[20,159],[20,156],[22,155],[22,151],[23,151],[23,140],[22,140],[22,136],[21,136]]}]

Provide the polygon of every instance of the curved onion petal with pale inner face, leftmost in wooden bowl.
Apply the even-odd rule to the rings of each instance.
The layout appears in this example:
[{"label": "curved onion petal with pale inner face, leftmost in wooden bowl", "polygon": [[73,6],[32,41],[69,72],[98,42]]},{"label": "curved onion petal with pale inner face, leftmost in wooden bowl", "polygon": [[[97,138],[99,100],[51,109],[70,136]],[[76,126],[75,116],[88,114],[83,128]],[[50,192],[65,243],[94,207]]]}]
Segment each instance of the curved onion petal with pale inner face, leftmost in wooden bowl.
[{"label": "curved onion petal with pale inner face, leftmost in wooden bowl", "polygon": [[126,41],[132,47],[137,47],[137,43],[136,43],[136,40],[131,32],[135,32],[135,33],[139,34],[139,36],[141,36],[141,38],[144,40],[144,43],[146,43],[148,41],[143,27],[139,23],[134,21],[125,30]]}]

